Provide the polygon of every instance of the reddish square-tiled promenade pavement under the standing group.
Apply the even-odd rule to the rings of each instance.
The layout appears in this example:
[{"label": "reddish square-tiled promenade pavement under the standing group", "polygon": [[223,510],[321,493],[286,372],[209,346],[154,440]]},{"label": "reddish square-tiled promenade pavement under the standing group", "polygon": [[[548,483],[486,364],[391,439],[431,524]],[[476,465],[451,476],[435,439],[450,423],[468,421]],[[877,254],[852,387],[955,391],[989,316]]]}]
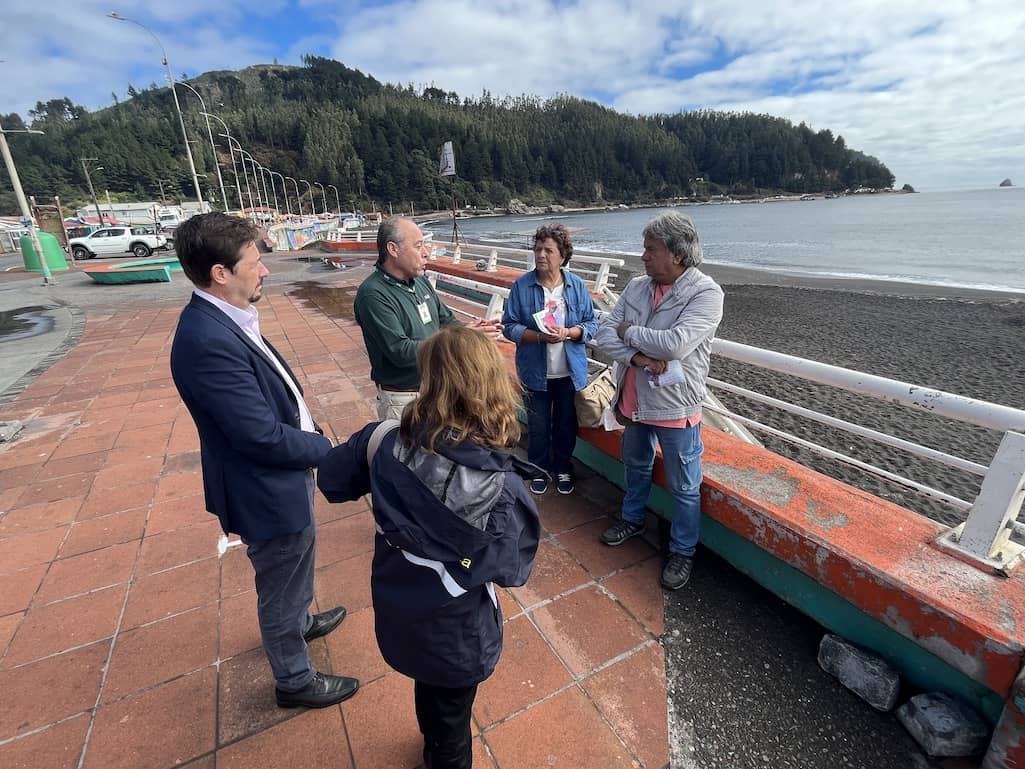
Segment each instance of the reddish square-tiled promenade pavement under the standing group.
[{"label": "reddish square-tiled promenade pavement under the standing group", "polygon": [[[217,556],[170,379],[178,310],[90,311],[78,345],[0,409],[28,423],[0,450],[0,766],[412,769],[412,682],[374,640],[366,500],[318,499],[318,608],[350,614],[311,647],[363,688],[324,711],[275,705],[251,569],[240,548]],[[260,318],[329,435],[372,420],[352,322],[280,291]],[[505,649],[474,710],[475,767],[667,764],[658,557],[597,541],[618,498],[584,477],[541,500],[533,576],[501,591]]]}]

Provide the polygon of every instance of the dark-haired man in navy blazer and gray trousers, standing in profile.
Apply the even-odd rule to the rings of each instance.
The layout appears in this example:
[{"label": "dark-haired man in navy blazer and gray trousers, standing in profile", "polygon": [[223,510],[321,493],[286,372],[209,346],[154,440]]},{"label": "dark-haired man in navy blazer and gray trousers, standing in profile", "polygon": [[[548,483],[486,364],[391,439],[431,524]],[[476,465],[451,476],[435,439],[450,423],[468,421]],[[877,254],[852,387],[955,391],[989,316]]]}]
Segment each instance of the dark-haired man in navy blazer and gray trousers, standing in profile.
[{"label": "dark-haired man in navy blazer and gray trousers, standing in profile", "polygon": [[175,248],[195,284],[171,347],[171,375],[199,431],[206,509],[239,534],[256,574],[263,650],[282,707],[326,707],[359,681],[319,673],[306,642],[345,609],[311,615],[314,597],[313,469],[331,448],[288,364],[259,333],[254,302],[270,273],[252,222],[193,216]]}]

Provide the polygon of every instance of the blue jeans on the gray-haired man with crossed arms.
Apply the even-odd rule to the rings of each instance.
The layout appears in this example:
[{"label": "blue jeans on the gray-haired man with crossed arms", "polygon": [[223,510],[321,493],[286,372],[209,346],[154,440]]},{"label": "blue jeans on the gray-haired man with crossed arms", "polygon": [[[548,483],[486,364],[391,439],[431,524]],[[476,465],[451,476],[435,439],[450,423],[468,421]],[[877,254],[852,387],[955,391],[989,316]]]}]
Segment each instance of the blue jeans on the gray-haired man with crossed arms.
[{"label": "blue jeans on the gray-haired man with crossed arms", "polygon": [[622,459],[626,469],[623,518],[643,524],[651,471],[655,462],[655,439],[662,447],[666,491],[674,502],[669,530],[669,552],[693,556],[701,533],[701,423],[693,428],[658,428],[634,422],[623,434]]}]

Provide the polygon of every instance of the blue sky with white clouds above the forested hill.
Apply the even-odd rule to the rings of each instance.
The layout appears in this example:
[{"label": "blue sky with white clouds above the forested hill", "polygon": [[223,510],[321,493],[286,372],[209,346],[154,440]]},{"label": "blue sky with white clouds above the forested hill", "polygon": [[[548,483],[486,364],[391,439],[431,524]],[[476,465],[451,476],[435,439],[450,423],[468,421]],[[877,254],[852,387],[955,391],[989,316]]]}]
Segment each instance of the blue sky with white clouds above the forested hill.
[{"label": "blue sky with white clouds above the forested hill", "polygon": [[313,53],[460,96],[804,121],[897,187],[1025,184],[1023,0],[5,0],[0,114],[163,84],[157,41],[111,10],[152,31],[176,77]]}]

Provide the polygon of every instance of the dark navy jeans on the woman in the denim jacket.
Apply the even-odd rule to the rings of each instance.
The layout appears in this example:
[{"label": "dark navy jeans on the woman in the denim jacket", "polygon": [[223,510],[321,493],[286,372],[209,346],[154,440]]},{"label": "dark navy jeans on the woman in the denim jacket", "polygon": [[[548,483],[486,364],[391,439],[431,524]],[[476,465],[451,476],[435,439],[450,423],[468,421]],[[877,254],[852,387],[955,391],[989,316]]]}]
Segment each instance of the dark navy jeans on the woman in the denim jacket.
[{"label": "dark navy jeans on the woman in the denim jacket", "polygon": [[528,390],[527,459],[551,475],[569,473],[576,447],[576,390],[573,379],[548,379],[547,390]]}]

